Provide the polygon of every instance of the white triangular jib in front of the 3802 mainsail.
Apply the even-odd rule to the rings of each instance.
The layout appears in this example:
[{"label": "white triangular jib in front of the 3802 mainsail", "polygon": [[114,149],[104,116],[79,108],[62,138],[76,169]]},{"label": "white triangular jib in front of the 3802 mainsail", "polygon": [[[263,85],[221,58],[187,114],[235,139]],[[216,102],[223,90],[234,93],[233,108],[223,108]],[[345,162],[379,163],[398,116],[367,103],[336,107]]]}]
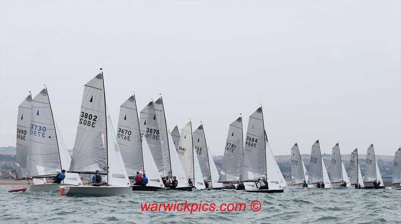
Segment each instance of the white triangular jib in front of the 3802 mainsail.
[{"label": "white triangular jib in front of the 3802 mainsail", "polygon": [[[108,112],[108,111],[107,111]],[[115,186],[129,186],[127,171],[118,148],[114,128],[110,116],[107,116],[107,152],[109,164],[109,184]]]}]

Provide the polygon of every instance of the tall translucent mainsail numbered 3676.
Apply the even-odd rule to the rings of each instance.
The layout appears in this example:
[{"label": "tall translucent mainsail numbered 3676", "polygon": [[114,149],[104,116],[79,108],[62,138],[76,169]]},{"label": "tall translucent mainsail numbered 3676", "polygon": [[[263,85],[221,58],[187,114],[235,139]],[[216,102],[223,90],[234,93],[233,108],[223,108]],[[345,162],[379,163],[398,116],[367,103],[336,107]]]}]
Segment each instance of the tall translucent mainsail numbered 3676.
[{"label": "tall translucent mainsail numbered 3676", "polygon": [[160,176],[171,176],[167,125],[161,97],[148,108],[146,122],[143,136],[152,152]]}]

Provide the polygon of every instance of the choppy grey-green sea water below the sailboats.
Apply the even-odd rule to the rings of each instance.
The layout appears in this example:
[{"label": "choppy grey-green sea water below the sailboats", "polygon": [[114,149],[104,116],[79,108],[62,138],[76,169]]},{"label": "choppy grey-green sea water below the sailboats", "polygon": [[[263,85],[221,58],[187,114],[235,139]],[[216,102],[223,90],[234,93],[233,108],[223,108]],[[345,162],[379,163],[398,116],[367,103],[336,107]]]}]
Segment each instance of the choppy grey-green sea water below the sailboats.
[{"label": "choppy grey-green sea water below the sailboats", "polygon": [[[284,193],[168,190],[66,196],[0,186],[0,223],[400,223],[401,190],[291,188]],[[251,202],[261,203],[259,211]],[[145,203],[245,203],[245,211],[142,211]],[[201,205],[202,205],[201,204]],[[182,208],[182,207],[181,207]]]}]

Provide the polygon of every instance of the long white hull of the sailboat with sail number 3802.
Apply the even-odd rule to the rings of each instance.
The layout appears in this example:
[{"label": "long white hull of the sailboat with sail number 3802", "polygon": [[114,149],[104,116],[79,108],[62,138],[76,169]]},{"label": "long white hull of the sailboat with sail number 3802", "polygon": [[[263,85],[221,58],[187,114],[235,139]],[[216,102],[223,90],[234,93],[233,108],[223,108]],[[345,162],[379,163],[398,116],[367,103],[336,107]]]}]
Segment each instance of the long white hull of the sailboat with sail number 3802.
[{"label": "long white hull of the sailboat with sail number 3802", "polygon": [[60,187],[60,193],[66,195],[121,196],[131,195],[132,188],[129,186],[65,186]]}]

